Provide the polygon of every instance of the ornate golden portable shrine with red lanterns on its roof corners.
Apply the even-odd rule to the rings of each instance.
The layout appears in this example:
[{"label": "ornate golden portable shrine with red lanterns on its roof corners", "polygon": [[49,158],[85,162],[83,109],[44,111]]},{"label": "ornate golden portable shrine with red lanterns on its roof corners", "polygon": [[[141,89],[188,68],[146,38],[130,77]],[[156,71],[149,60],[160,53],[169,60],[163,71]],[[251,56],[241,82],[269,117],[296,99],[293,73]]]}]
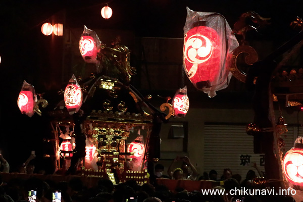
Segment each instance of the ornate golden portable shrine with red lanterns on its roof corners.
[{"label": "ornate golden portable shrine with red lanterns on its roof corners", "polygon": [[44,143],[51,143],[54,152],[46,151],[44,158],[52,159],[56,174],[103,177],[114,184],[148,182],[147,169],[160,157],[166,115],[148,103],[151,96],[143,97],[130,84],[135,68],[126,46],[107,47],[84,26],[79,51],[96,71],[85,79],[71,75],[58,91],[63,99],[56,107],[50,109],[26,81],[20,91],[21,113],[51,120],[52,137]]}]

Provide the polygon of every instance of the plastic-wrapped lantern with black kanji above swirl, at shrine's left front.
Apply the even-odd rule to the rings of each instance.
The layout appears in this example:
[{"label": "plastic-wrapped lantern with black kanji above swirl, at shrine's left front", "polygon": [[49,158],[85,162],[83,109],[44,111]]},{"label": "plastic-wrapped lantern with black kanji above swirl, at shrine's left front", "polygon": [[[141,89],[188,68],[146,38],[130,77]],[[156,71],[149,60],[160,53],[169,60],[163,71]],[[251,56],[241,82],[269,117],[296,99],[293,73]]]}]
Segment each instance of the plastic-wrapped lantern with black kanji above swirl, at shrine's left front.
[{"label": "plastic-wrapped lantern with black kanji above swirl, at shrine's left front", "polygon": [[77,113],[82,106],[82,90],[75,75],[72,76],[65,88],[64,102],[71,115]]}]

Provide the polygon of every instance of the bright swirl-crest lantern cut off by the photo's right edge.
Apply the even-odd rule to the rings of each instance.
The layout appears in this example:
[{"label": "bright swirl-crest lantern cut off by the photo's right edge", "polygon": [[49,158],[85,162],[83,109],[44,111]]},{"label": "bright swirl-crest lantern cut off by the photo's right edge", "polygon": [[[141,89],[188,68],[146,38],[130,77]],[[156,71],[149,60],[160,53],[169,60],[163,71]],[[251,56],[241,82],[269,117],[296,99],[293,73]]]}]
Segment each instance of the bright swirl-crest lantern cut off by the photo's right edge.
[{"label": "bright swirl-crest lantern cut off by the photo's right edge", "polygon": [[287,180],[303,186],[303,137],[295,140],[293,147],[287,151],[283,159],[283,173]]}]

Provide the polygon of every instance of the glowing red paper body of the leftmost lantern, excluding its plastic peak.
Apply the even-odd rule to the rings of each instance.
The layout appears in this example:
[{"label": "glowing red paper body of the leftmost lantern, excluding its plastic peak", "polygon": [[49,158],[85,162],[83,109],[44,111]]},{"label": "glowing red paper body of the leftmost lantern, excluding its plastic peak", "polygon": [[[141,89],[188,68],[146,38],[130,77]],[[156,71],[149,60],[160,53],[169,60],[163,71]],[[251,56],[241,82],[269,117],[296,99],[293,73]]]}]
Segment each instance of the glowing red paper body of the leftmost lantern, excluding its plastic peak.
[{"label": "glowing red paper body of the leftmost lantern, excluding its plastic peak", "polygon": [[35,100],[31,91],[22,90],[19,93],[17,104],[22,114],[26,114],[30,117],[34,114]]}]

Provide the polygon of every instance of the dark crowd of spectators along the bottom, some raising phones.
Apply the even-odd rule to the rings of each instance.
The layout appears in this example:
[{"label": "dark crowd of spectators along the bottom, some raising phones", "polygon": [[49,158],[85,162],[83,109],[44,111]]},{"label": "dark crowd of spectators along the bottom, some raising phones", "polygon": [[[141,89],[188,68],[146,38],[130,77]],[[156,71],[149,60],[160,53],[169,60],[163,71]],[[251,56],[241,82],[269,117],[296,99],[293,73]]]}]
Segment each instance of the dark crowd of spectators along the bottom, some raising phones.
[{"label": "dark crowd of spectators along the bottom, some raising phones", "polygon": [[[35,170],[32,160],[35,155],[31,154],[24,164],[19,166],[20,173],[32,174]],[[179,166],[176,168],[176,163]],[[181,164],[180,164],[181,162]],[[9,164],[0,155],[0,169],[3,173],[9,172]],[[256,164],[259,176],[264,173],[260,172]],[[211,170],[208,173],[199,175],[195,167],[191,164],[188,157],[177,157],[165,174],[165,167],[157,164],[154,167],[154,176],[156,178],[184,179],[184,180],[212,180],[219,182],[213,190],[225,190],[225,193],[231,189],[269,189],[268,184],[256,187],[252,183],[257,177],[254,170],[249,170],[245,179],[233,174],[230,169],[224,169],[223,174],[218,175],[217,171]],[[150,175],[152,176],[152,175]],[[100,178],[96,186],[86,187],[80,178],[71,178],[69,181],[55,182],[52,180],[41,180],[36,177],[29,179],[13,178],[9,181],[3,181],[0,175],[0,202],[2,201],[29,201],[28,191],[36,191],[36,201],[48,202],[53,200],[55,191],[61,192],[61,201],[65,202],[291,202],[294,201],[291,195],[226,195],[226,194],[205,194],[201,190],[187,191],[186,187],[176,187],[175,190],[156,181],[138,185],[136,181],[130,180],[122,184],[114,185],[111,180]]]}]

